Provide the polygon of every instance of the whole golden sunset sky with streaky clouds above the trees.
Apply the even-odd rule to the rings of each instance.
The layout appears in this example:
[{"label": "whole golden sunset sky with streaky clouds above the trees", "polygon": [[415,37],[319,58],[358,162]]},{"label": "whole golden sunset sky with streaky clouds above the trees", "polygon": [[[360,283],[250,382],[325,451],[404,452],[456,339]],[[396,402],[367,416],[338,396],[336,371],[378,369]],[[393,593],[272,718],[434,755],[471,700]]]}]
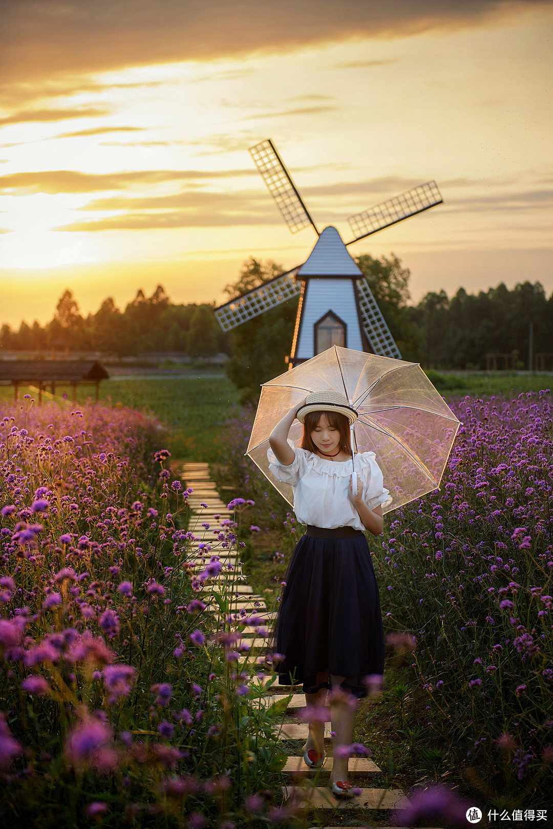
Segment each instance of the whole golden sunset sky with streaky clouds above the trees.
[{"label": "whole golden sunset sky with streaky clouds above the trees", "polygon": [[292,235],[250,158],[272,138],[319,227],[435,179],[444,205],[352,245],[417,302],[553,291],[553,3],[4,0],[0,322],[162,283],[224,301]]}]

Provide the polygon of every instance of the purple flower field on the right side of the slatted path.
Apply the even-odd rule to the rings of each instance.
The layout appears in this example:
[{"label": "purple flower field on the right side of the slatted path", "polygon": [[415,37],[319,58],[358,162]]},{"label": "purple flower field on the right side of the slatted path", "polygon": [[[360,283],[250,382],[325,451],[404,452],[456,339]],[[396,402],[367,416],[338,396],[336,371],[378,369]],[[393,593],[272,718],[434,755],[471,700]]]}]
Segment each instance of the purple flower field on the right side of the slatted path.
[{"label": "purple flower field on the right side of the slatted path", "polygon": [[[512,807],[547,807],[551,394],[448,402],[462,426],[440,489],[390,512],[383,536],[369,537],[387,642],[409,669],[405,693],[412,697],[415,688],[415,696],[426,697],[423,715],[403,733],[413,746],[417,739],[434,744],[440,768],[454,771],[466,793]],[[240,485],[255,500],[255,524],[280,528],[273,561],[285,565],[301,529],[243,457],[252,414],[245,410],[227,425],[229,463],[221,482]],[[400,723],[405,729],[401,711]]]}]

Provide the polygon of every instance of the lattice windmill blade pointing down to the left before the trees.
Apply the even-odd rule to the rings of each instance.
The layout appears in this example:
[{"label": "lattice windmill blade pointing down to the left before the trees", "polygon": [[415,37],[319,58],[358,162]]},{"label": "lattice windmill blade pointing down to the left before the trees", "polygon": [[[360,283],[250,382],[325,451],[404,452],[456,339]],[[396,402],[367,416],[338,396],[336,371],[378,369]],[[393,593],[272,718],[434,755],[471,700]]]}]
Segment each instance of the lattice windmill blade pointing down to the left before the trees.
[{"label": "lattice windmill blade pointing down to the left before the trees", "polygon": [[275,276],[259,288],[254,288],[253,291],[248,291],[241,297],[231,299],[229,303],[216,308],[216,320],[223,331],[230,331],[231,328],[259,316],[269,308],[274,308],[292,297],[297,297],[302,289],[301,282],[295,280],[298,268]]}]

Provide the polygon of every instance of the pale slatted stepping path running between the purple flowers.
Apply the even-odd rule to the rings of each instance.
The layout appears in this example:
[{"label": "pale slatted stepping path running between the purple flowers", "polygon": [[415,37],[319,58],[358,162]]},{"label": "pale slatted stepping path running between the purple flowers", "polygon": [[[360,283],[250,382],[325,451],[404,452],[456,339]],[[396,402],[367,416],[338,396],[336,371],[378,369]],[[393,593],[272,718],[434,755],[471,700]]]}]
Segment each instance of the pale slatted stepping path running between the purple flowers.
[{"label": "pale slatted stepping path running between the purple flowers", "polygon": [[[194,536],[201,538],[201,541],[194,542],[194,547],[198,551],[198,560],[195,565],[196,572],[203,570],[201,559],[201,548],[199,545],[207,544],[215,536],[213,530],[221,526],[221,521],[226,518],[232,519],[233,513],[226,508],[226,504],[221,501],[218,492],[216,491],[215,482],[211,481],[209,474],[209,464],[207,463],[185,463],[182,466],[182,481],[186,483],[187,487],[193,487],[194,492],[189,499],[191,507],[191,516],[188,529],[192,530]],[[206,507],[202,507],[206,504]],[[202,525],[209,526],[202,526]],[[221,550],[214,550],[216,555],[221,555]],[[206,556],[206,561],[209,561],[211,552],[204,548],[203,555]],[[253,589],[246,584],[245,576],[242,575],[239,559],[235,552],[229,552],[228,555],[221,555],[221,563],[232,564],[234,570],[223,571],[216,582],[209,582],[206,584],[203,594],[210,595],[211,602],[208,606],[217,609],[218,605],[213,603],[216,592],[221,590],[221,579],[226,579],[233,584],[232,603],[230,613],[237,613],[240,608],[245,608],[249,613],[260,613],[263,618],[268,620],[274,617],[274,613],[266,612],[266,605],[264,598],[258,594],[254,594]],[[219,582],[219,584],[217,584]],[[246,626],[243,639],[250,643],[250,655],[255,653],[258,648],[264,647],[264,639],[256,636],[256,629]],[[241,657],[244,661],[245,656]],[[265,668],[266,670],[266,668]],[[263,684],[266,685],[270,681],[270,676],[265,677]],[[285,693],[288,691],[288,693]],[[371,785],[372,780],[382,773],[381,768],[371,760],[366,758],[352,757],[349,761],[349,775],[350,781],[361,788],[361,794],[357,797],[348,798],[347,800],[340,800],[332,794],[328,783],[330,779],[330,772],[332,770],[332,737],[330,734],[330,723],[325,724],[325,750],[327,752],[327,759],[323,768],[313,771],[309,769],[303,762],[303,744],[308,738],[308,724],[301,723],[294,716],[294,711],[303,708],[305,705],[305,697],[302,693],[298,693],[298,686],[295,688],[291,686],[278,686],[274,684],[265,692],[265,696],[261,698],[262,705],[272,705],[274,702],[285,700],[289,697],[289,702],[286,707],[286,714],[289,722],[279,725],[278,734],[280,739],[285,739],[293,744],[293,754],[289,754],[283,768],[284,785],[282,787],[285,800],[290,803],[297,803],[299,806],[308,809],[312,812],[316,809],[319,815],[325,815],[330,818],[328,829],[332,826],[332,815],[338,815],[338,812],[347,812],[351,817],[359,817],[363,815],[367,817],[367,810],[374,812],[377,809],[395,809],[403,807],[407,804],[407,798],[399,789],[383,789],[376,788]],[[291,695],[291,696],[290,696]],[[294,721],[295,720],[295,721]],[[318,785],[300,787],[293,785],[294,779],[298,781],[298,773],[301,773],[305,779],[314,778],[317,776]],[[323,810],[319,812],[318,810]],[[313,813],[313,812],[312,812]],[[335,824],[336,826],[338,824]],[[326,829],[326,827],[323,827]],[[402,829],[402,827],[395,827],[395,829]]]}]

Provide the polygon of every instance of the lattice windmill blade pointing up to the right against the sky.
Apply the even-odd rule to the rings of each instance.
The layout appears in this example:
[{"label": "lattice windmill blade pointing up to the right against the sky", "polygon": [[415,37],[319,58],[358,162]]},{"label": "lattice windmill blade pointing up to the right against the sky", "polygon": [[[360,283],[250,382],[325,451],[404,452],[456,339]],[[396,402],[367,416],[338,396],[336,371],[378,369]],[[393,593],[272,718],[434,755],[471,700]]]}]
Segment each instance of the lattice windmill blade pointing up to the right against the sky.
[{"label": "lattice windmill blade pointing up to the right against the sky", "polygon": [[398,221],[429,210],[430,207],[442,204],[443,201],[438,185],[434,181],[406,190],[405,193],[400,193],[393,199],[382,201],[381,204],[370,207],[362,213],[350,216],[347,221],[356,238],[346,244],[352,245],[353,242],[364,239],[365,236],[370,236],[377,230],[395,225]]}]

